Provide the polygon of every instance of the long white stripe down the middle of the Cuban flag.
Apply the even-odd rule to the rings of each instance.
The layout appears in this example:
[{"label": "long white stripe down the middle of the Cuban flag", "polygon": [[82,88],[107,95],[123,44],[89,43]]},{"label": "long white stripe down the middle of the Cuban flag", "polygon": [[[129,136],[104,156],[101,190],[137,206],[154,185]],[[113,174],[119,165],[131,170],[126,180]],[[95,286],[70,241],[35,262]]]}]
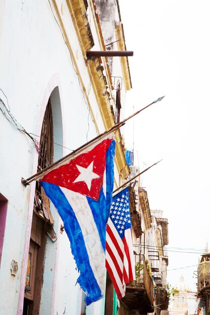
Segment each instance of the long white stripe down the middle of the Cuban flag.
[{"label": "long white stripe down the middle of the Cuban flag", "polygon": [[80,224],[90,266],[100,286],[102,294],[105,292],[105,253],[101,245],[100,235],[95,224],[92,210],[86,196],[60,187],[69,204],[73,208]]}]

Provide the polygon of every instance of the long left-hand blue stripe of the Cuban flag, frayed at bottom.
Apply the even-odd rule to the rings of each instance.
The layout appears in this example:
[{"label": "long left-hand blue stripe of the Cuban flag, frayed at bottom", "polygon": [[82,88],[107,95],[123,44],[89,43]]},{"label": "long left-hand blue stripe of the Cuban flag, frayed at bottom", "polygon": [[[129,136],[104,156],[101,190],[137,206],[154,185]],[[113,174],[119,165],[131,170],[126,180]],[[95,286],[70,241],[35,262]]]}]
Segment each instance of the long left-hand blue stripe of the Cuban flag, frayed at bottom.
[{"label": "long left-hand blue stripe of the Cuban flag, frayed at bottom", "polygon": [[40,182],[40,184],[63,220],[65,232],[71,242],[72,254],[77,262],[78,271],[80,272],[78,283],[84,292],[88,292],[85,300],[87,305],[89,305],[103,297],[103,295],[90,266],[80,224],[73,208],[59,186],[46,182]]}]

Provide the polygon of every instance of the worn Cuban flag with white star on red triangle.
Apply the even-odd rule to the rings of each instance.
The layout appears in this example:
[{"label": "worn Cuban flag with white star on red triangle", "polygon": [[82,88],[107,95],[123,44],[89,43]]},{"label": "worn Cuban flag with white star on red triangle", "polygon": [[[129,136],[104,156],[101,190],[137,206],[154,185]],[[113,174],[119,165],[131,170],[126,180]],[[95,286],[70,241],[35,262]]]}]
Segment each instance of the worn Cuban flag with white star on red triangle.
[{"label": "worn Cuban flag with white star on red triangle", "polygon": [[106,223],[114,182],[115,141],[109,135],[39,179],[64,224],[86,304],[105,292]]}]

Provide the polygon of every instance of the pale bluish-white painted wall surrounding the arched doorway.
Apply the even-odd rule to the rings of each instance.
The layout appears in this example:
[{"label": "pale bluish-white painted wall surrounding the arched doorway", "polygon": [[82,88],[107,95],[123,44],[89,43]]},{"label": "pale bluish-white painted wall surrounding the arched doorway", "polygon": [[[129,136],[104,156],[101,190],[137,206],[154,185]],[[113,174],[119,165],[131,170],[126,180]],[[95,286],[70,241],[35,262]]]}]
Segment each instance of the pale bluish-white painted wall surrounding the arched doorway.
[{"label": "pale bluish-white painted wall surrounding the arched doorway", "polygon": [[[39,136],[48,99],[58,87],[63,128],[63,141],[59,144],[66,147],[62,149],[65,155],[71,152],[69,149],[96,136],[96,127],[54,12],[48,1],[7,0],[1,6],[0,88],[7,98],[1,91],[0,97],[6,104],[8,99],[8,108],[17,122],[28,133]],[[104,131],[74,24],[67,9],[63,11],[63,21],[72,40],[85,88],[90,91],[89,101],[95,120],[99,130]],[[92,28],[96,34],[93,23]],[[22,312],[35,189],[35,183],[24,187],[21,178],[36,173],[38,152],[31,139],[12,127],[2,112],[0,128],[0,193],[9,201],[0,272],[0,314],[15,315]],[[60,141],[59,137],[57,140]],[[116,167],[115,174],[118,181]],[[79,285],[75,286],[78,278],[75,261],[65,232],[59,232],[60,220],[55,209],[52,214],[56,219],[57,240],[54,243],[47,240],[40,314],[61,314],[64,310],[80,314],[82,295]],[[10,271],[13,259],[18,263],[16,276]],[[94,303],[89,309],[87,314],[103,313],[104,301]]]}]

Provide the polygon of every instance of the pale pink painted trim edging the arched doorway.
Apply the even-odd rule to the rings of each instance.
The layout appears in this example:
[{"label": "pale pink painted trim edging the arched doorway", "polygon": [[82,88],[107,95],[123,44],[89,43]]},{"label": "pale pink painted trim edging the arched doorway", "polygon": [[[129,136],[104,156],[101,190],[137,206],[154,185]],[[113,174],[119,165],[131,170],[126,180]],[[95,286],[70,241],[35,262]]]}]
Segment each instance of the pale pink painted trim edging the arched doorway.
[{"label": "pale pink painted trim edging the arched doorway", "polygon": [[[43,121],[43,117],[44,117],[44,113],[45,113],[45,109],[46,109],[49,97],[52,91],[56,87],[59,88],[59,92],[60,92],[60,80],[59,80],[58,73],[55,73],[51,77],[43,95],[42,104],[41,104],[40,113],[39,113],[37,133],[36,133],[38,135],[41,133],[42,121]],[[61,100],[61,96],[60,96],[60,100]],[[62,108],[61,108],[61,111],[62,111]],[[37,137],[37,141],[39,141],[38,137]],[[38,162],[38,152],[35,150],[32,174],[35,174],[37,171],[37,162]],[[19,295],[17,315],[23,314],[24,289],[25,289],[25,281],[26,281],[26,270],[27,270],[27,264],[28,264],[28,252],[29,252],[29,245],[30,245],[31,224],[32,224],[32,216],[33,216],[33,206],[34,206],[34,191],[35,191],[35,182],[32,182],[30,185],[29,211],[28,211],[28,219],[27,219],[27,227],[26,227],[23,263],[22,263],[22,270],[21,270],[20,295]],[[57,254],[56,254],[56,260],[57,260]],[[55,262],[55,264],[57,263]],[[54,301],[52,301],[52,304],[53,304],[52,307],[54,307]]]}]

